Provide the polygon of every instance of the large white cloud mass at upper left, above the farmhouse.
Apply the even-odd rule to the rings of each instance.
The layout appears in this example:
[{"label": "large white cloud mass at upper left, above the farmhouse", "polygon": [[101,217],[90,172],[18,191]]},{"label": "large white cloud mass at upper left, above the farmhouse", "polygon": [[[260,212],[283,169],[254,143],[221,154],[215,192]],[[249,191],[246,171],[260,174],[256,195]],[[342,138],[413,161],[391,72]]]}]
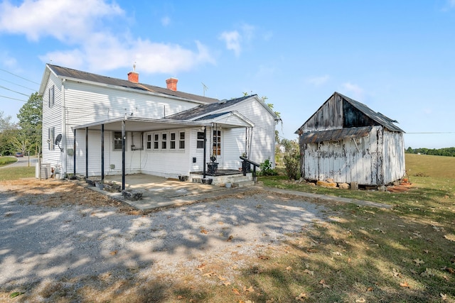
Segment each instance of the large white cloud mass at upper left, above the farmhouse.
[{"label": "large white cloud mass at upper left, above the farmhouse", "polygon": [[[131,37],[127,29],[125,33],[112,33],[107,29],[112,18],[118,24],[119,18],[126,17],[122,8],[105,0],[25,0],[19,6],[0,4],[0,32],[23,34],[36,41],[50,36],[70,45],[70,49],[41,55],[43,62],[92,72],[131,67],[137,62],[141,72],[174,75],[198,64],[215,63],[208,48],[198,41],[197,50],[191,50]],[[166,17],[161,22],[166,25],[170,19]]]}]

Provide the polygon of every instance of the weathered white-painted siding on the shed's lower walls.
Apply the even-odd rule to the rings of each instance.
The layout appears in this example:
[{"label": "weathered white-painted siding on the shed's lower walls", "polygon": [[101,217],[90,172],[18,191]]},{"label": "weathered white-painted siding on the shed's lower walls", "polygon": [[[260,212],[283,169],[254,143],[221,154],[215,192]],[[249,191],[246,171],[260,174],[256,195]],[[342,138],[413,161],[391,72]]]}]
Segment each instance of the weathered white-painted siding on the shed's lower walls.
[{"label": "weathered white-painted siding on the shed's lower walls", "polygon": [[404,175],[402,133],[374,126],[368,136],[302,143],[302,177],[307,180],[383,185]]}]

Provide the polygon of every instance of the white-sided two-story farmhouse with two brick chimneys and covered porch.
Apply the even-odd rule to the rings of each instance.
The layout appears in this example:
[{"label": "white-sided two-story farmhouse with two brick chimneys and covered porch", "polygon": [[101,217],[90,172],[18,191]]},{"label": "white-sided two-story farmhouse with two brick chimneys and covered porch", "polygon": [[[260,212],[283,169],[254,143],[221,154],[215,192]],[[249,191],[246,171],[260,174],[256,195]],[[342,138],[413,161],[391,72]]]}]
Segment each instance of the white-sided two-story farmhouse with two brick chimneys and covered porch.
[{"label": "white-sided two-story farmhouse with two brick chimneys and covered porch", "polygon": [[240,155],[274,160],[277,116],[256,94],[218,100],[139,82],[46,65],[43,162],[67,174],[162,177],[239,170]]}]

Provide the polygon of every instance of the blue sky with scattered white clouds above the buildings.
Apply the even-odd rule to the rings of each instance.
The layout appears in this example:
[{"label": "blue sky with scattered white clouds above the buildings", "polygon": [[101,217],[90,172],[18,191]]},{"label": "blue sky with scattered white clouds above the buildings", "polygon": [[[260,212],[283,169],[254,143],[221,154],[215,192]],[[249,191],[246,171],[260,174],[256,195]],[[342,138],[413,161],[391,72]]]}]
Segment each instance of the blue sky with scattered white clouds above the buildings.
[{"label": "blue sky with scattered white clouds above the buildings", "polygon": [[455,0],[0,1],[0,111],[14,120],[45,63],[127,79],[136,62],[139,82],[267,97],[282,138],[340,92],[399,121],[405,147],[444,148],[454,59]]}]

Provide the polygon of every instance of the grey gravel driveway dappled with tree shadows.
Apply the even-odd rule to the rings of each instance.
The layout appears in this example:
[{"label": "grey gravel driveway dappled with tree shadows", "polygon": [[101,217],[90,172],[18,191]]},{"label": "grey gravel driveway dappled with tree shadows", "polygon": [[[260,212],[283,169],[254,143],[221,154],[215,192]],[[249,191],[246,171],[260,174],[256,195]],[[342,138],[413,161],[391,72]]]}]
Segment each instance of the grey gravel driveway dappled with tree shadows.
[{"label": "grey gravel driveway dappled with tree shadows", "polygon": [[47,194],[66,199],[0,187],[3,292],[33,294],[55,281],[73,281],[77,290],[87,277],[107,273],[172,277],[210,260],[241,267],[287,234],[326,220],[323,206],[277,194],[245,192],[146,215],[114,206],[35,203]]}]

